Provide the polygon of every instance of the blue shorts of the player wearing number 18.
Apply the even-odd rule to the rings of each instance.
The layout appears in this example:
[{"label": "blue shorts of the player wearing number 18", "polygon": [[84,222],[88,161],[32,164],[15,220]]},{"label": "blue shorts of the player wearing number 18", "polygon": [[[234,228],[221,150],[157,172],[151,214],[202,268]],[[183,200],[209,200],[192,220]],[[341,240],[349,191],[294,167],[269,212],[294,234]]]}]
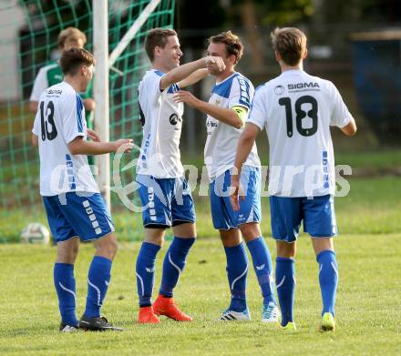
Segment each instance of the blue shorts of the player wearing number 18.
[{"label": "blue shorts of the player wearing number 18", "polygon": [[304,198],[270,197],[272,237],[293,242],[297,239],[301,221],[303,231],[313,238],[330,238],[337,234],[334,197],[326,195]]}]

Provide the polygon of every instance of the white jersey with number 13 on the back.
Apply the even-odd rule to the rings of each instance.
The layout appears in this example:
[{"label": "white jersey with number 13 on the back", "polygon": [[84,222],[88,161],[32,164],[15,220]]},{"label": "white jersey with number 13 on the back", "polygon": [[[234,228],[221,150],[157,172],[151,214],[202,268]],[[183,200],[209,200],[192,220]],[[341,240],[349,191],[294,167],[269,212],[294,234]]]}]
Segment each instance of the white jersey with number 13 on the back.
[{"label": "white jersey with number 13 on the back", "polygon": [[55,196],[70,191],[98,193],[86,155],[68,149],[76,137],[87,139],[81,97],[66,82],[50,86],[39,98],[34,128],[40,157],[40,194]]}]

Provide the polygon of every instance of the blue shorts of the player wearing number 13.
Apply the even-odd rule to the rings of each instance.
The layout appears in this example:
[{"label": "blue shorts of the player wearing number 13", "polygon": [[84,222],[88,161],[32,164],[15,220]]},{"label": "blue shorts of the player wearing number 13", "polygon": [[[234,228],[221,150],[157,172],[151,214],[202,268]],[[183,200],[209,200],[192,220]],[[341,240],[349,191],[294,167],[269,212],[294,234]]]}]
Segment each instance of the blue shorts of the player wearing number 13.
[{"label": "blue shorts of the player wearing number 13", "polygon": [[79,237],[83,241],[100,239],[114,231],[114,224],[99,193],[69,192],[43,197],[48,225],[55,242]]}]

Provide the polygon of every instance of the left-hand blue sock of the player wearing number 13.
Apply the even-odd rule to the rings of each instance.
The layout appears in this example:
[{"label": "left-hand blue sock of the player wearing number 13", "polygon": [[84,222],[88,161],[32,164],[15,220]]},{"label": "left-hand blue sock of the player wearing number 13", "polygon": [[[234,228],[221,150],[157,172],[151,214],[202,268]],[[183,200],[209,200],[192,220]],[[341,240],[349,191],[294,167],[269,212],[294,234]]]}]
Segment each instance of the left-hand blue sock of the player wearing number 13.
[{"label": "left-hand blue sock of the player wearing number 13", "polygon": [[74,265],[55,263],[53,277],[61,320],[69,326],[77,326]]}]

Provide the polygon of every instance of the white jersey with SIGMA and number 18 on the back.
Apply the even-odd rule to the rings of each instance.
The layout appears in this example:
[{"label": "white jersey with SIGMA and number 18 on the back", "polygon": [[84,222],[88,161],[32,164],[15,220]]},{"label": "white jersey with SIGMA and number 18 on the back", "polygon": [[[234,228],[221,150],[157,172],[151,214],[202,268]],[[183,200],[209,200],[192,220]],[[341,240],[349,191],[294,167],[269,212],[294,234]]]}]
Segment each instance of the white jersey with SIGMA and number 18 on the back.
[{"label": "white jersey with SIGMA and number 18 on the back", "polygon": [[351,114],[334,84],[303,70],[287,70],[256,89],[249,122],[266,127],[270,146],[269,194],[334,195],[330,127]]}]

